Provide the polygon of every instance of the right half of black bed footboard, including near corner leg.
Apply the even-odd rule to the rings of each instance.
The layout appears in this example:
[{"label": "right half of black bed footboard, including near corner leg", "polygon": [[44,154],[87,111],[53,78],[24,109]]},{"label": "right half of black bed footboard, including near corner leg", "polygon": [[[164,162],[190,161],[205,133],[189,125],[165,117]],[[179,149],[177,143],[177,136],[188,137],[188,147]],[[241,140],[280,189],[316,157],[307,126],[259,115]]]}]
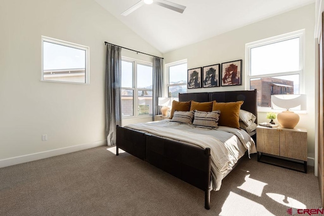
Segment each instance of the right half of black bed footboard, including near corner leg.
[{"label": "right half of black bed footboard, including near corner leg", "polygon": [[148,134],[146,147],[148,163],[205,191],[205,208],[210,209],[210,148],[203,149]]}]

